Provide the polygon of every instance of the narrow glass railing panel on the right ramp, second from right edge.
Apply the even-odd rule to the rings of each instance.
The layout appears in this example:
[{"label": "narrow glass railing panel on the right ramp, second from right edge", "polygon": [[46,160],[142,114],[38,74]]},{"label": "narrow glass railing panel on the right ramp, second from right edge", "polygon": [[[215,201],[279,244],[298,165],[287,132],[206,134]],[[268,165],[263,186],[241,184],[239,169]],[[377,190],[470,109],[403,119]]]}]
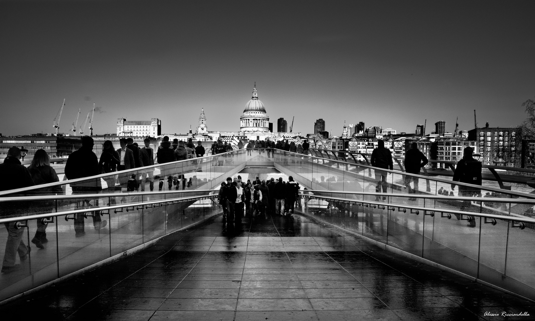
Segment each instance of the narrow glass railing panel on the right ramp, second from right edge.
[{"label": "narrow glass railing panel on the right ramp, second from right edge", "polygon": [[[476,218],[479,221],[479,218]],[[479,278],[496,284],[505,274],[507,234],[509,221],[481,218],[481,240],[479,246]],[[496,223],[495,225],[494,222]]]}]

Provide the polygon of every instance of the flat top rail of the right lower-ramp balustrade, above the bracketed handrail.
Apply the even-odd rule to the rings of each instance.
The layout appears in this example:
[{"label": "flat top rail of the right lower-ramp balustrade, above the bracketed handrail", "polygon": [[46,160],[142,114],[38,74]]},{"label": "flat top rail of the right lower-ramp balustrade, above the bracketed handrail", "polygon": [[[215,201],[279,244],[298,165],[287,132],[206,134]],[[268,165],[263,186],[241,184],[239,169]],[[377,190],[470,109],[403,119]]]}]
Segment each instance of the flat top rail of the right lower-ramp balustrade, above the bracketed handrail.
[{"label": "flat top rail of the right lower-ramp balustrade, above the bracketed handrail", "polygon": [[[497,202],[497,203],[518,203],[518,204],[533,204],[535,200],[522,199],[522,198],[498,198],[498,197],[467,197],[467,196],[439,196],[439,195],[425,195],[425,194],[392,194],[392,193],[372,193],[372,192],[350,192],[343,190],[318,190],[318,189],[306,189],[299,190],[300,195],[315,195],[305,194],[307,192],[316,193],[334,193],[334,194],[353,194],[353,195],[370,195],[370,196],[387,196],[387,197],[415,197],[415,198],[427,198],[430,200],[444,200],[444,201],[473,201],[473,202]],[[355,200],[353,200],[355,201]]]}]

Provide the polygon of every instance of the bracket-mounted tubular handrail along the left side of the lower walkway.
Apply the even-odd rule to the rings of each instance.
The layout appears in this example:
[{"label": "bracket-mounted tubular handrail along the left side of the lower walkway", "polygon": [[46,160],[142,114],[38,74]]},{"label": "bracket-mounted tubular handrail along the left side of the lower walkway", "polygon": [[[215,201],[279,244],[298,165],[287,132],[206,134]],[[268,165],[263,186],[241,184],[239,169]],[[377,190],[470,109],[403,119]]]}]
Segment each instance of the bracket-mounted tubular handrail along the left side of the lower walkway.
[{"label": "bracket-mounted tubular handrail along the left side of the lower walkway", "polygon": [[[130,208],[130,207],[136,208],[136,207],[140,207],[140,206],[144,206],[144,205],[150,205],[150,204],[168,203],[168,202],[176,202],[176,201],[189,201],[189,200],[203,199],[203,198],[213,198],[213,197],[216,197],[216,195],[213,195],[213,196],[202,195],[202,196],[178,197],[178,198],[170,198],[169,200],[155,200],[155,201],[148,201],[148,202],[142,202],[142,203],[128,203],[128,204],[113,205],[113,206],[98,207],[98,208],[78,209],[78,210],[71,210],[71,211],[64,211],[64,212],[51,212],[51,213],[36,214],[36,215],[18,216],[18,217],[10,217],[10,218],[0,218],[0,224],[13,223],[13,222],[24,221],[24,220],[29,220],[29,219],[40,219],[40,218],[67,216],[67,215],[77,214],[77,213],[114,210],[114,209],[121,209],[121,208]],[[108,214],[109,214],[109,212],[108,212]]]}]

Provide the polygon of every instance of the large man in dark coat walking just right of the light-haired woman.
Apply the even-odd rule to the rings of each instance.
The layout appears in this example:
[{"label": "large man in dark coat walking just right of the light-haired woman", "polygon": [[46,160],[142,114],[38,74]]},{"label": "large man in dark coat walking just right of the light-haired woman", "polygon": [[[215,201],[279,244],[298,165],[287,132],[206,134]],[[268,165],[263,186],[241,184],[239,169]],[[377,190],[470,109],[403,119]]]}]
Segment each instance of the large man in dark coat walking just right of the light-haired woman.
[{"label": "large man in dark coat walking just right of the light-haired woman", "polygon": [[[93,146],[93,139],[90,136],[82,137],[82,147],[79,150],[73,151],[67,158],[67,163],[65,164],[65,176],[67,179],[73,180],[99,174],[98,159],[93,152]],[[88,179],[70,185],[73,194],[97,193],[102,190],[100,178]],[[84,202],[89,203],[89,200],[84,200]],[[98,199],[95,200],[95,206],[98,206]],[[107,221],[101,221],[100,212],[93,212],[93,226],[95,230],[100,230],[106,224],[108,224]],[[83,213],[75,215],[74,232],[77,237],[86,234]]]}]

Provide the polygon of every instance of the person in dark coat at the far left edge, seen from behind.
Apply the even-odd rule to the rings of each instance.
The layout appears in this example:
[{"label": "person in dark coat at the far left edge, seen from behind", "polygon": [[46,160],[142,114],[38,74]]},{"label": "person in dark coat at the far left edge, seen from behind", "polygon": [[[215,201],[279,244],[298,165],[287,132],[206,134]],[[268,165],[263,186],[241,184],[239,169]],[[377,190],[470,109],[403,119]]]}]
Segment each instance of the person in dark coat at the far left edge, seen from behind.
[{"label": "person in dark coat at the far left edge, seen from behind", "polygon": [[[24,188],[34,186],[32,175],[28,169],[21,165],[20,149],[18,147],[11,147],[7,151],[7,157],[4,163],[0,164],[0,177],[2,177],[3,184],[0,184],[0,190],[8,190],[15,188]],[[17,196],[17,195],[10,195]],[[12,215],[14,210],[19,210],[21,206],[19,202],[10,205],[3,203],[0,209],[0,215]],[[1,216],[0,216],[1,217]],[[4,223],[7,230],[7,241],[5,243],[4,261],[2,262],[2,273],[11,273],[17,271],[20,265],[15,265],[17,253],[20,261],[25,261],[29,257],[30,247],[24,244],[24,228],[15,228],[15,223]]]}]

